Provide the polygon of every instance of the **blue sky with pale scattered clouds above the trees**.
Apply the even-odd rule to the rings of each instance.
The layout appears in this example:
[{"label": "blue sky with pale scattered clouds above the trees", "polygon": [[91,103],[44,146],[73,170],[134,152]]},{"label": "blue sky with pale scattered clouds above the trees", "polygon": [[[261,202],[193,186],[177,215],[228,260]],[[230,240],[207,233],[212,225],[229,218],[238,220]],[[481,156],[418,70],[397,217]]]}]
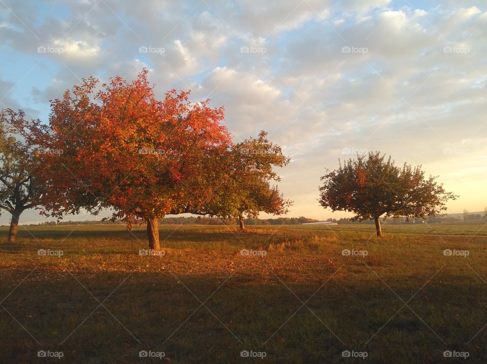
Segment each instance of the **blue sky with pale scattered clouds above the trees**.
[{"label": "blue sky with pale scattered clouds above the trees", "polygon": [[288,216],[350,216],[319,205],[320,176],[376,150],[438,175],[460,195],[447,212],[480,211],[486,23],[487,3],[469,0],[0,0],[0,107],[47,122],[83,78],[145,67],[160,97],[224,106],[235,142],[265,130],[281,145]]}]

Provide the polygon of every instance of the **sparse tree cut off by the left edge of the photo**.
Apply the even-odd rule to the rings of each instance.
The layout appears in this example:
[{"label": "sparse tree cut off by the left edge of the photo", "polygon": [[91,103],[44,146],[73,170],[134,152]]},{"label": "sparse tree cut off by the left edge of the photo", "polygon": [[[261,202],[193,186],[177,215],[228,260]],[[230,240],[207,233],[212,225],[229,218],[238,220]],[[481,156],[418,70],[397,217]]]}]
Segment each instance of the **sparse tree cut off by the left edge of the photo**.
[{"label": "sparse tree cut off by the left edge of the photo", "polygon": [[43,183],[34,177],[39,160],[15,128],[23,117],[22,111],[0,113],[0,208],[12,215],[9,242],[15,242],[21,213],[36,207],[43,193]]}]

